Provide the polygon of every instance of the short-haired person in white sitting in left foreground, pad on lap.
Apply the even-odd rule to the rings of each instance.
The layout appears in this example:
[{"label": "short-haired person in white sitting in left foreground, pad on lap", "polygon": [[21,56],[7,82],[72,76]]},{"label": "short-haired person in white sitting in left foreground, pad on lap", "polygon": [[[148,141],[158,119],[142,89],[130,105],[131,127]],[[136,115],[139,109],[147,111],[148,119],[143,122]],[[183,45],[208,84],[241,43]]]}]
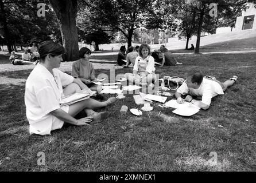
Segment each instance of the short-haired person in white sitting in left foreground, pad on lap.
[{"label": "short-haired person in white sitting in left foreground, pad on lap", "polygon": [[[63,46],[53,41],[45,41],[39,49],[41,62],[29,74],[25,88],[26,117],[30,134],[46,135],[52,130],[61,129],[64,122],[77,126],[87,125],[92,120],[102,120],[108,112],[96,113],[92,109],[110,105],[115,98],[99,102],[88,98],[69,106],[60,106],[60,100],[72,93],[88,90],[77,78],[56,69],[63,61]],[[76,120],[74,116],[84,110],[87,117]]]}]

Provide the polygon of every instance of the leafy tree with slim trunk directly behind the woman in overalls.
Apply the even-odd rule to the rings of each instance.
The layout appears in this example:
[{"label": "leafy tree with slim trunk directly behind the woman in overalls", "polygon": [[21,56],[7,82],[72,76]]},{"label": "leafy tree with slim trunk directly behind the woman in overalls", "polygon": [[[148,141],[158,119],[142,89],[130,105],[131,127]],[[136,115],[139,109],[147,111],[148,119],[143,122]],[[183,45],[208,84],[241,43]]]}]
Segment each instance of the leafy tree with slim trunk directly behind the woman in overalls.
[{"label": "leafy tree with slim trunk directly behind the woman in overalls", "polygon": [[131,46],[133,32],[145,22],[153,5],[153,0],[91,0],[91,13],[94,21],[108,26],[112,30],[121,31],[127,38],[127,46]]}]

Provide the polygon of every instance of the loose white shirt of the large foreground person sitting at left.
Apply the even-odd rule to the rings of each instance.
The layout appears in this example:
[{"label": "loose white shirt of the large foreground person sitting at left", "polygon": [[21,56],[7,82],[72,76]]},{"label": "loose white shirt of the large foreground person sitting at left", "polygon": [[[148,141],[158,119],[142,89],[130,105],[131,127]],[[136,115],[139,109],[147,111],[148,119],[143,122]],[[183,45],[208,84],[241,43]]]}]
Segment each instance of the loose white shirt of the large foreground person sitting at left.
[{"label": "loose white shirt of the large foreground person sitting at left", "polygon": [[63,87],[72,83],[73,77],[58,69],[53,69],[53,74],[55,77],[38,64],[26,81],[25,105],[30,134],[51,134],[51,130],[60,129],[64,124],[49,113],[56,109],[68,112],[68,106],[60,108],[60,99]]}]

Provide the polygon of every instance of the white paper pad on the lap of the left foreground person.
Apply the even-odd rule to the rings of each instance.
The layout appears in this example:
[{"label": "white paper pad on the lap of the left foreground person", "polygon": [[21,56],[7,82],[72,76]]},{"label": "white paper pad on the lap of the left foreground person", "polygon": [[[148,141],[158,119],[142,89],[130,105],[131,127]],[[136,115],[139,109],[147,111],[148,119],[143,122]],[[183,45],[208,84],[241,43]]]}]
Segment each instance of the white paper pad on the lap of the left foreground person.
[{"label": "white paper pad on the lap of the left foreground person", "polygon": [[89,94],[89,93],[75,93],[70,96],[61,98],[60,106],[71,105],[76,102],[86,100],[86,99],[90,98],[90,96],[91,96],[91,94]]}]

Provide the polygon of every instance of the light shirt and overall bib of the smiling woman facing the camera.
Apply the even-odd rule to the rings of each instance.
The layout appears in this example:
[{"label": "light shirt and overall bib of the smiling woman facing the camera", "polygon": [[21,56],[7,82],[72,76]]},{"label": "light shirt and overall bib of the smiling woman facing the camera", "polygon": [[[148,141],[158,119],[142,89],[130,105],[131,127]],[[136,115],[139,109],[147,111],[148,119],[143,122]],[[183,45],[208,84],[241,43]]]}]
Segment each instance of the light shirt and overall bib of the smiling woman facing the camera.
[{"label": "light shirt and overall bib of the smiling woman facing the camera", "polygon": [[154,67],[154,58],[150,55],[145,59],[138,56],[135,59],[133,70],[138,71],[139,74],[145,73],[146,71],[149,74],[154,73],[154,71],[156,70],[156,68]]}]

